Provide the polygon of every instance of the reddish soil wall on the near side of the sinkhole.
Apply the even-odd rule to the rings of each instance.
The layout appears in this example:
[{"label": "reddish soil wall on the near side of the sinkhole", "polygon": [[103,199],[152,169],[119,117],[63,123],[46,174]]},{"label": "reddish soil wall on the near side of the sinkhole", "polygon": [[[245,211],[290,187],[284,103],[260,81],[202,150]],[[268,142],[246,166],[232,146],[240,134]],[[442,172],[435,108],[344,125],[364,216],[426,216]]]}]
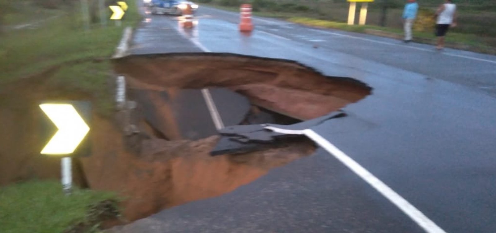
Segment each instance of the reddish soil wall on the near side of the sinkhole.
[{"label": "reddish soil wall on the near side of the sinkhole", "polygon": [[118,191],[124,216],[132,221],[158,210],[230,192],[282,166],[313,153],[302,141],[282,148],[238,156],[209,156],[217,141],[212,136],[198,141],[148,139],[136,155],[124,149],[120,132],[110,122],[97,119],[94,153],[81,159],[90,187]]}]

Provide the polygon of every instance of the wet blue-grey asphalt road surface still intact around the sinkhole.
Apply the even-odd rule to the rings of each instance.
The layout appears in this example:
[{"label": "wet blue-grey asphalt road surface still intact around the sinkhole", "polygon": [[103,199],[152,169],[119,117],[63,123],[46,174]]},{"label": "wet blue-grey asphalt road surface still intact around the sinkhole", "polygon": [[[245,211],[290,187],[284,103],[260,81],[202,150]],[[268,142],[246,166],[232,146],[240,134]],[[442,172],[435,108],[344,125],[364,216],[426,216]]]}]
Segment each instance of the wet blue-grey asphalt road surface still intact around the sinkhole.
[{"label": "wet blue-grey asphalt road surface still intact around the sinkhole", "polygon": [[[199,46],[294,59],[366,82],[373,94],[344,108],[349,117],[313,129],[444,231],[496,232],[496,57],[272,19],[255,19],[247,36],[237,30],[237,13],[202,7],[196,15],[195,29],[179,28],[181,35],[175,17],[147,16],[131,51],[196,52]],[[121,232],[423,230],[320,149],[232,193],[164,210]]]}]

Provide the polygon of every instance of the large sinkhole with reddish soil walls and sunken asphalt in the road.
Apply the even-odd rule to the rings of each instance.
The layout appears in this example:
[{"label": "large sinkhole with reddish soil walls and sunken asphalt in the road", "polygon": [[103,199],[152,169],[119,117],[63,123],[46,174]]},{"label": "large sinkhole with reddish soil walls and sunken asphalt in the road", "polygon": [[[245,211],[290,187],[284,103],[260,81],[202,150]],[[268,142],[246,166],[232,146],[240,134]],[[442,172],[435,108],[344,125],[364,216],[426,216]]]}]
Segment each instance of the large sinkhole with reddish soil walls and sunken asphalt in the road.
[{"label": "large sinkhole with reddish soil walls and sunken asphalt in the road", "polygon": [[94,164],[113,163],[114,171],[89,177],[89,183],[124,190],[131,197],[124,215],[131,221],[230,192],[315,150],[309,140],[298,139],[257,152],[209,156],[219,136],[215,128],[208,133],[213,123],[199,107],[205,105],[201,89],[210,90],[217,105],[236,103],[231,109],[217,106],[226,126],[292,124],[371,93],[362,82],[324,76],[295,61],[232,54],[133,55],[115,59],[114,69],[125,76],[129,97],[137,103],[138,114],[130,120],[140,133],[125,141],[133,153],[95,159]]}]

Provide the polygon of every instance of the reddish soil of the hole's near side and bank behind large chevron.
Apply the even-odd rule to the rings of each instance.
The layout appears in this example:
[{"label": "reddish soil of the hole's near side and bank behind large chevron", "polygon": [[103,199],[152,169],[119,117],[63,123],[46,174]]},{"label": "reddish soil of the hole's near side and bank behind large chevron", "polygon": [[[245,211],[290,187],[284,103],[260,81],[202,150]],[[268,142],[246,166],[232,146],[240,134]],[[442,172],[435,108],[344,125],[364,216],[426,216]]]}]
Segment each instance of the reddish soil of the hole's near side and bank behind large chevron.
[{"label": "reddish soil of the hole's near side and bank behind large chevron", "polygon": [[[39,154],[46,139],[40,138],[43,116],[38,101],[60,98],[44,94],[57,88],[41,82],[9,89],[8,95],[0,95],[0,185],[32,178],[59,179],[60,158]],[[79,185],[87,183],[93,189],[127,197],[123,207],[128,221],[230,192],[314,150],[312,143],[303,141],[245,155],[211,157],[208,153],[218,139],[212,136],[198,141],[137,140],[134,143],[140,144],[141,152],[135,153],[113,120],[94,114],[91,123],[92,153],[79,160],[84,174],[75,170],[74,179]],[[154,138],[150,128],[144,131],[145,138]]]}]

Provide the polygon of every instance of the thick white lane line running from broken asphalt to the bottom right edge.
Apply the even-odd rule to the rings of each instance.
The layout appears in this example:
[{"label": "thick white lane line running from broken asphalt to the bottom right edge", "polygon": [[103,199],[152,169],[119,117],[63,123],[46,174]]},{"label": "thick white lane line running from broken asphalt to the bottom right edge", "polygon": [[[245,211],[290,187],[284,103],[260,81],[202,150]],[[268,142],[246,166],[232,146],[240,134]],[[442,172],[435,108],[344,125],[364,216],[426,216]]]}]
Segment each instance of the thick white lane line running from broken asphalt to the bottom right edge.
[{"label": "thick white lane line running from broken asphalt to the bottom right edge", "polygon": [[422,227],[427,233],[446,233],[439,226],[437,226],[432,220],[425,216],[420,210],[415,208],[410,202],[405,200],[402,196],[388,187],[384,182],[379,180],[377,177],[372,175],[360,164],[355,162],[352,158],[342,152],[339,148],[332,145],[325,138],[317,134],[311,129],[303,130],[304,134],[307,135],[311,140],[320,145],[329,154],[333,155],[336,159],[341,161],[346,167],[348,167],[355,174],[360,176],[363,180],[369,183],[375,190],[386,197],[390,202],[392,202],[396,207],[398,207],[403,213],[410,217],[415,223]]}]

